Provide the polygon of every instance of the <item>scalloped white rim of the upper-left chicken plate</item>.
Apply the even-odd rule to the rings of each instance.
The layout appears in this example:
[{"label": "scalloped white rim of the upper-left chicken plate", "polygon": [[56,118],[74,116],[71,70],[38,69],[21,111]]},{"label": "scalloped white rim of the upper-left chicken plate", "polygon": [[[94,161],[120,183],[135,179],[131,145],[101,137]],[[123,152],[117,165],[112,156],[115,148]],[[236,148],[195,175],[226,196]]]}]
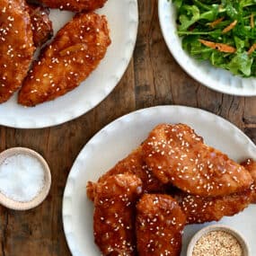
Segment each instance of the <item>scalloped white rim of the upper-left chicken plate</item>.
[{"label": "scalloped white rim of the upper-left chicken plate", "polygon": [[[31,117],[25,117],[20,119],[17,116],[8,116],[7,114],[0,119],[0,125],[9,128],[49,128],[63,124],[67,121],[76,119],[90,110],[93,110],[94,107],[99,105],[107,96],[114,90],[117,84],[119,84],[120,79],[125,74],[130,59],[133,55],[136,41],[137,41],[137,30],[138,30],[138,5],[137,0],[126,0],[129,10],[128,10],[128,38],[126,40],[125,49],[123,54],[118,55],[118,63],[116,66],[115,74],[109,74],[109,79],[104,81],[104,89],[94,95],[93,100],[87,101],[86,104],[80,103],[72,108],[72,110],[62,111],[61,114],[55,114],[54,116],[44,116],[41,119],[33,119]],[[104,10],[104,7],[101,11]],[[111,30],[111,28],[110,28]],[[84,83],[84,82],[83,82]],[[56,100],[57,101],[57,100]]]}]

